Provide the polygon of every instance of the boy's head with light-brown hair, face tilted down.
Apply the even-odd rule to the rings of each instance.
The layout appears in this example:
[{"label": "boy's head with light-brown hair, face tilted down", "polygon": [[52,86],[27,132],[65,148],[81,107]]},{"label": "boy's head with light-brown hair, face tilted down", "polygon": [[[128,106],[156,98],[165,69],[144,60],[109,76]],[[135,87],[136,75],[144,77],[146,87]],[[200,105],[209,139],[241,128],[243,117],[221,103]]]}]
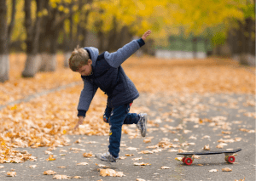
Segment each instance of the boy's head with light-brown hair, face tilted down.
[{"label": "boy's head with light-brown hair, face tilted down", "polygon": [[77,71],[82,76],[90,75],[92,61],[84,48],[79,48],[79,46],[75,48],[68,61],[72,71]]}]

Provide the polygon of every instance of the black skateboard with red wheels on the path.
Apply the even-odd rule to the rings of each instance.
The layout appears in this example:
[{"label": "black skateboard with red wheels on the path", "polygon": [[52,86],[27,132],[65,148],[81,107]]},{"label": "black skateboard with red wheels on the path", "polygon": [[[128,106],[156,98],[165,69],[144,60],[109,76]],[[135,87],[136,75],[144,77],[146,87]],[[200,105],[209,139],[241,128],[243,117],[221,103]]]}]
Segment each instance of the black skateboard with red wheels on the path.
[{"label": "black skateboard with red wheels on the path", "polygon": [[236,150],[220,150],[220,151],[201,151],[201,152],[183,152],[183,153],[177,153],[177,155],[183,155],[183,163],[186,165],[191,165],[194,159],[192,158],[193,155],[215,155],[215,154],[222,154],[225,155],[225,161],[228,163],[235,162],[235,156],[233,156],[234,153],[241,151],[241,149]]}]

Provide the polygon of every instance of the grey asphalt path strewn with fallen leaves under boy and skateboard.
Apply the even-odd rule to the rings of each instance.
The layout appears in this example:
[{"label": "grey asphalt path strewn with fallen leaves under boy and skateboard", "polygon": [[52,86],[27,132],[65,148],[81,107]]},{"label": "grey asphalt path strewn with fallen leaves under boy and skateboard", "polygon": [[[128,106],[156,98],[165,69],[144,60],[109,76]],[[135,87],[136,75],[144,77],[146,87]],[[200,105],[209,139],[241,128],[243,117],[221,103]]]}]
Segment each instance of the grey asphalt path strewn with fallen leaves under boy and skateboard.
[{"label": "grey asphalt path strewn with fallen leaves under boy and skateboard", "polygon": [[[68,93],[74,95],[79,92],[79,88],[81,86],[43,95],[32,100],[32,104],[37,105],[37,102],[40,103],[43,100],[50,102],[53,97],[57,100],[61,100],[63,97],[71,99],[72,96]],[[99,105],[101,105],[102,111],[104,99],[106,97],[98,93],[96,101],[93,103],[96,105],[101,103],[102,105]],[[31,104],[31,102],[26,104]],[[53,170],[56,174],[70,177],[80,176],[82,180],[137,180],[137,178],[145,180],[235,180],[246,178],[246,180],[253,180],[255,178],[254,106],[255,99],[252,94],[207,93],[204,95],[176,94],[170,96],[166,93],[141,93],[141,96],[131,106],[131,112],[148,113],[148,135],[146,138],[142,138],[135,125],[123,127],[120,156],[124,160],[119,160],[116,164],[107,164],[94,157],[83,156],[84,153],[94,156],[97,152],[107,151],[107,135],[65,134],[63,138],[69,144],[66,146],[38,147],[36,149],[17,148],[16,150],[26,150],[32,156],[36,156],[37,161],[1,164],[4,167],[0,170],[0,179],[49,180],[54,176],[43,173]],[[102,111],[95,111],[102,116]],[[90,112],[86,119],[96,118],[95,111]],[[102,120],[96,124],[105,125]],[[80,129],[84,129],[85,132],[88,131],[87,127],[93,130],[89,121],[86,121],[84,127]],[[201,159],[195,159],[191,166],[185,166],[182,161],[176,160],[179,157],[177,156],[178,151],[202,150],[207,144],[211,150],[220,150],[216,146],[221,144],[219,142],[221,140],[227,141],[222,143],[224,150],[242,148],[242,151],[237,153],[235,164],[227,164],[223,155],[201,156]],[[75,143],[76,141],[77,143]],[[45,154],[46,150],[51,152],[55,161],[46,161],[49,158],[49,155]],[[145,151],[148,151],[148,154],[143,154]],[[126,154],[133,156],[125,156]],[[134,158],[141,160],[133,161]],[[77,165],[80,162],[86,162],[86,165]],[[135,162],[148,165],[135,166]],[[122,172],[125,176],[122,178],[102,177],[98,171],[98,168],[103,168],[99,167],[100,164],[116,172]],[[32,165],[36,165],[36,167],[31,168]],[[168,169],[161,169],[161,167]],[[222,172],[224,167],[230,167],[232,172]],[[212,169],[217,169],[218,172],[209,173]],[[15,178],[6,176],[6,173],[11,170],[16,172]]]}]

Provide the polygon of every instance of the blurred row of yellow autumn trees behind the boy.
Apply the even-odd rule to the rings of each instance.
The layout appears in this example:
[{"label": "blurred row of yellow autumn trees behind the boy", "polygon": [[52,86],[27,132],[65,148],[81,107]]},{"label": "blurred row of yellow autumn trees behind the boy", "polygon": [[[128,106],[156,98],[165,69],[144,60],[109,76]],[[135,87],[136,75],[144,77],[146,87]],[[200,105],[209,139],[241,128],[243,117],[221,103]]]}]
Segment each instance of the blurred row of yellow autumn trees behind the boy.
[{"label": "blurred row of yellow autumn trees behind the boy", "polygon": [[137,56],[255,66],[253,0],[0,0],[0,17],[0,82],[9,80],[10,54],[26,54],[21,76],[33,77],[55,71],[57,54],[68,67],[78,45],[113,52],[149,29]]}]

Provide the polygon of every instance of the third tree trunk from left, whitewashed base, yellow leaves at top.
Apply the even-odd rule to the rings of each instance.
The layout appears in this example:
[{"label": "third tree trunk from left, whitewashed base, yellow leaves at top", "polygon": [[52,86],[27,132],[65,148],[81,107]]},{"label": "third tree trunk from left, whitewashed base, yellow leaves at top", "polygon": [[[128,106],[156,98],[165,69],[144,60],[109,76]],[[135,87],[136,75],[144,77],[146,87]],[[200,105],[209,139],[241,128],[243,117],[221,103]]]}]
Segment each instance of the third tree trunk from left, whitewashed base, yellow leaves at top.
[{"label": "third tree trunk from left, whitewashed base, yellow leaves at top", "polygon": [[44,9],[47,15],[43,17],[42,32],[39,37],[41,46],[39,52],[42,55],[42,64],[39,71],[55,71],[58,37],[64,20],[69,16],[69,0],[45,0]]}]

